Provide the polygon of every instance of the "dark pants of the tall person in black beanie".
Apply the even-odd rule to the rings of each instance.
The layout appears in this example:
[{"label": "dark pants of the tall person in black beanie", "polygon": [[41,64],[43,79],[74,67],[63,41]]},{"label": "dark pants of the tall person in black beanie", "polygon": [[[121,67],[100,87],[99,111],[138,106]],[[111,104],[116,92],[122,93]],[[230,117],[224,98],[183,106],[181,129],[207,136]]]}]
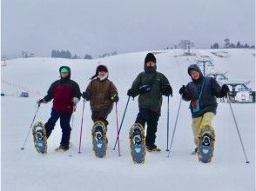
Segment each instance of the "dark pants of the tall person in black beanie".
[{"label": "dark pants of the tall person in black beanie", "polygon": [[139,109],[136,123],[141,124],[145,128],[145,122],[147,124],[145,143],[148,147],[155,145],[156,133],[158,130],[159,114],[153,112],[150,109]]}]

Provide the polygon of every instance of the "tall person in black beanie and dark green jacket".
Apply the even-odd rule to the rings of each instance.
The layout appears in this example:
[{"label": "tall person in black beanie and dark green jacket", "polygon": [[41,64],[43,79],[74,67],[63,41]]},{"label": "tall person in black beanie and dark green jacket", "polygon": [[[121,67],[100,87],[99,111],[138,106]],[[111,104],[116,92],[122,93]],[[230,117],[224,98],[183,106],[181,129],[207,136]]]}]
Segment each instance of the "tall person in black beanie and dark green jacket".
[{"label": "tall person in black beanie and dark green jacket", "polygon": [[140,123],[146,130],[146,147],[149,152],[161,151],[155,145],[158,120],[161,113],[162,95],[172,95],[172,87],[168,79],[157,72],[157,60],[152,53],[145,56],[144,72],[141,72],[132,83],[127,95],[138,96],[138,116],[136,123]]}]

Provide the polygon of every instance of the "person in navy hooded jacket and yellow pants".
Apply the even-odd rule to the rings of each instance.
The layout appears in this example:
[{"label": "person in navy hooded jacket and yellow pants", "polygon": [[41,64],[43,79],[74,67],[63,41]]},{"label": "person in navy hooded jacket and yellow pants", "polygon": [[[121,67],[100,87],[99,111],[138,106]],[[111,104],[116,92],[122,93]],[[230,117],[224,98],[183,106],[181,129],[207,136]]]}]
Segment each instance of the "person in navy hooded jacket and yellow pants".
[{"label": "person in navy hooded jacket and yellow pants", "polygon": [[[185,101],[190,101],[189,109],[192,113],[192,132],[194,143],[199,146],[199,133],[201,128],[209,126],[212,128],[212,118],[216,115],[216,97],[224,97],[229,92],[226,84],[219,86],[219,83],[210,76],[203,76],[199,66],[192,64],[188,67],[188,75],[192,77],[192,82],[179,89],[179,94]],[[213,128],[212,128],[213,130]],[[212,135],[215,140],[215,133]],[[194,152],[194,153],[195,153]]]}]

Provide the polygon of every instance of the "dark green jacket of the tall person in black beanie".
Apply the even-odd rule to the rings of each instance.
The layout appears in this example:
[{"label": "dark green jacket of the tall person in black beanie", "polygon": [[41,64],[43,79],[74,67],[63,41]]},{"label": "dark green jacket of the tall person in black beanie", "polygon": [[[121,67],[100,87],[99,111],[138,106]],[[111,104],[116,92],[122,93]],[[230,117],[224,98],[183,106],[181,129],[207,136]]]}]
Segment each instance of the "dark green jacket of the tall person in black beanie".
[{"label": "dark green jacket of the tall person in black beanie", "polygon": [[[168,79],[160,72],[156,71],[157,66],[148,69],[145,66],[145,72],[138,74],[137,78],[132,82],[131,89],[135,92],[135,96],[138,96],[138,108],[150,109],[160,115],[162,107],[162,89],[165,86],[170,85]],[[152,85],[152,90],[143,94],[140,94],[139,87],[145,84]]]}]

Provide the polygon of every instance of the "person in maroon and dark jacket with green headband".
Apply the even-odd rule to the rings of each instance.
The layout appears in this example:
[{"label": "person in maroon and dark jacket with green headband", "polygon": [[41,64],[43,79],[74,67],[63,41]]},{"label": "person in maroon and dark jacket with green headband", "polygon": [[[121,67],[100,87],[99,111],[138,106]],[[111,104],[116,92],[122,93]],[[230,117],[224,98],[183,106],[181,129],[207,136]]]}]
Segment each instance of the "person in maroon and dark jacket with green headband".
[{"label": "person in maroon and dark jacket with green headband", "polygon": [[47,91],[47,95],[45,95],[43,99],[38,100],[37,103],[47,103],[53,99],[51,117],[48,122],[45,123],[46,137],[49,138],[58,118],[60,118],[62,139],[57,150],[66,151],[70,148],[71,115],[75,109],[74,106],[80,100],[81,92],[77,82],[71,80],[70,67],[60,67],[59,73],[61,79],[53,82],[50,89]]}]

